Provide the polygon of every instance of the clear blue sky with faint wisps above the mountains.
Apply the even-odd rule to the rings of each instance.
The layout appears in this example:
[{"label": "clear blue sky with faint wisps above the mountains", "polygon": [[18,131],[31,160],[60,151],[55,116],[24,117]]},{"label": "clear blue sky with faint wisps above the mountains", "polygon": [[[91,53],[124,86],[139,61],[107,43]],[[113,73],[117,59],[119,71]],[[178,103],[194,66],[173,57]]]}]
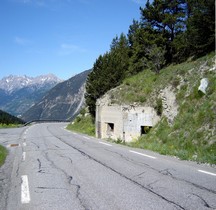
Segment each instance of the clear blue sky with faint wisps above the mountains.
[{"label": "clear blue sky with faint wisps above the mountains", "polygon": [[92,68],[112,39],[139,20],[145,0],[1,0],[0,79]]}]

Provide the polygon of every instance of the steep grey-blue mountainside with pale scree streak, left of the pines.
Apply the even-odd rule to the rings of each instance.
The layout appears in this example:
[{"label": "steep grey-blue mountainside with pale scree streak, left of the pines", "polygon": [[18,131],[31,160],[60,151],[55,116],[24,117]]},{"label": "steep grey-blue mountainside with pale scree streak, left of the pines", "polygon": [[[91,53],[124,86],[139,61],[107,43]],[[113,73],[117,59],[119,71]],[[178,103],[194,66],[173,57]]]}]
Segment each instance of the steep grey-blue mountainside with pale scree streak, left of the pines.
[{"label": "steep grey-blue mountainside with pale scree streak, left of the pines", "polygon": [[84,71],[52,88],[22,116],[32,120],[71,120],[84,105],[85,81],[90,70]]}]

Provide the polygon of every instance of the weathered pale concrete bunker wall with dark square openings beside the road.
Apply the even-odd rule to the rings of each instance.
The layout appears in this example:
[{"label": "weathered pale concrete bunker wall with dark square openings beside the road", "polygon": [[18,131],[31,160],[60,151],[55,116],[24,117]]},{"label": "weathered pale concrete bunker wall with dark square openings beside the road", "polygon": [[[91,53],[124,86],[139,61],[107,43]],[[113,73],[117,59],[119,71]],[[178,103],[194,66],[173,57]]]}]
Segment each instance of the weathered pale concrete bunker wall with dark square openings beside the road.
[{"label": "weathered pale concrete bunker wall with dark square openings beside the road", "polygon": [[152,107],[109,106],[98,102],[96,136],[132,141],[141,135],[142,127],[153,127],[159,119]]}]

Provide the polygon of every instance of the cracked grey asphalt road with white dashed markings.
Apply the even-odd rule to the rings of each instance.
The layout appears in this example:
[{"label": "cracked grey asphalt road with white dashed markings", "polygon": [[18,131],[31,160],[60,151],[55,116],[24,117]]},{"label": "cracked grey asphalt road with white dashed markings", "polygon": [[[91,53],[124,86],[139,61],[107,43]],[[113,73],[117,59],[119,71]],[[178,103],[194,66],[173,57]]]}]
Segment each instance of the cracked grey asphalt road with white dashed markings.
[{"label": "cracked grey asphalt road with white dashed markings", "polygon": [[1,129],[0,209],[216,209],[216,168],[69,132]]}]

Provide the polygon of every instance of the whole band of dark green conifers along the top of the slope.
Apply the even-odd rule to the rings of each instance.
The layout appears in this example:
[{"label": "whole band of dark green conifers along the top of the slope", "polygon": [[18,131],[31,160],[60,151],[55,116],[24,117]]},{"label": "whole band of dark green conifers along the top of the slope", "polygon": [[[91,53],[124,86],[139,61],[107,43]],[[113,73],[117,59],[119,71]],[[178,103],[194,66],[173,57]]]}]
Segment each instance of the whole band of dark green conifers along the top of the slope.
[{"label": "whole band of dark green conifers along the top of the slope", "polygon": [[115,37],[110,50],[94,63],[85,95],[92,117],[95,117],[96,100],[128,76],[147,69],[159,73],[170,64],[212,52],[214,14],[214,0],[147,1],[140,8],[140,20],[133,21],[127,35]]}]

